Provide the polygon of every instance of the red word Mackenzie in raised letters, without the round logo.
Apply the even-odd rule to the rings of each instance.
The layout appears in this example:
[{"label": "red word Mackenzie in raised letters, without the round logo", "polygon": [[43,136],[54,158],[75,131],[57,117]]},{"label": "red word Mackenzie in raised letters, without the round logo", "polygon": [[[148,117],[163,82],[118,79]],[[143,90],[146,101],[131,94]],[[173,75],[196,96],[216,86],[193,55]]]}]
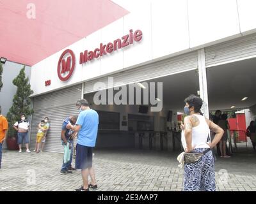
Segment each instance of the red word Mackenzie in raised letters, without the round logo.
[{"label": "red word Mackenzie in raised letters, without the round logo", "polygon": [[113,51],[116,51],[117,49],[126,47],[128,45],[131,45],[133,41],[140,41],[142,39],[142,31],[137,30],[133,33],[132,29],[130,30],[130,33],[123,36],[122,39],[116,39],[112,42],[109,42],[106,45],[103,45],[100,43],[99,48],[95,48],[93,51],[85,50],[84,52],[80,53],[80,64],[83,64],[87,61],[92,61],[94,58],[101,57],[102,55],[106,55],[108,53],[111,53]]}]

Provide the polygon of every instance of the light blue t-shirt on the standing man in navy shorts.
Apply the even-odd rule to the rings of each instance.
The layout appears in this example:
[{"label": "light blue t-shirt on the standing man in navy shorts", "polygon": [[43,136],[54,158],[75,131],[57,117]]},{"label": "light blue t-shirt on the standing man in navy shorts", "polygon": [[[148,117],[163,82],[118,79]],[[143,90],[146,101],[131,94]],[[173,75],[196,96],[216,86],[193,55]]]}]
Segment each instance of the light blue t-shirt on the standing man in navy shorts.
[{"label": "light blue t-shirt on the standing man in navy shorts", "polygon": [[77,143],[86,147],[95,147],[99,125],[98,113],[92,109],[83,110],[79,113],[76,124],[81,126]]}]

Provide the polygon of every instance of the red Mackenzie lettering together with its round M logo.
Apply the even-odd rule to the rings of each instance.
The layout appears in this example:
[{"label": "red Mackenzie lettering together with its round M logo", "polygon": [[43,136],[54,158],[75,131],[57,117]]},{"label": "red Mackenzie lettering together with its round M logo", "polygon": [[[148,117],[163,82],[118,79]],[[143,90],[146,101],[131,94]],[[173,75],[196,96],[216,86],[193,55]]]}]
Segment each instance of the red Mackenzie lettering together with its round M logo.
[{"label": "red Mackenzie lettering together with its round M logo", "polygon": [[[92,61],[95,58],[102,57],[102,55],[110,54],[120,48],[127,47],[132,45],[134,41],[141,41],[142,39],[142,32],[140,30],[136,30],[134,33],[132,29],[130,33],[122,36],[122,38],[118,38],[112,42],[103,45],[100,43],[99,48],[95,48],[93,51],[85,50],[84,52],[80,53],[80,60],[79,63],[83,64],[88,61]],[[65,50],[63,54],[61,54],[59,62],[58,62],[58,77],[61,81],[67,81],[68,78],[71,77],[76,64],[76,59],[74,52],[72,50]]]}]

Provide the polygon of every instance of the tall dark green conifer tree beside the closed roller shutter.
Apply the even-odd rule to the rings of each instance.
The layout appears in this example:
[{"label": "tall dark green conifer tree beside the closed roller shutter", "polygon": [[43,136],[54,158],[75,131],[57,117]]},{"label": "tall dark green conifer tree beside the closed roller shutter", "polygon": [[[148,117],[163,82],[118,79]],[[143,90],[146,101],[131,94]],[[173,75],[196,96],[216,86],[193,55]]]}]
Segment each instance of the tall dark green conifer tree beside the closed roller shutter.
[{"label": "tall dark green conifer tree beside the closed roller shutter", "polygon": [[13,96],[13,104],[6,118],[9,124],[8,136],[17,136],[13,124],[20,120],[20,113],[24,113],[26,117],[33,114],[33,109],[30,108],[31,99],[29,98],[33,91],[29,84],[29,78],[26,78],[25,75],[25,66],[20,69],[19,75],[13,79],[12,83],[17,86],[17,91]]}]

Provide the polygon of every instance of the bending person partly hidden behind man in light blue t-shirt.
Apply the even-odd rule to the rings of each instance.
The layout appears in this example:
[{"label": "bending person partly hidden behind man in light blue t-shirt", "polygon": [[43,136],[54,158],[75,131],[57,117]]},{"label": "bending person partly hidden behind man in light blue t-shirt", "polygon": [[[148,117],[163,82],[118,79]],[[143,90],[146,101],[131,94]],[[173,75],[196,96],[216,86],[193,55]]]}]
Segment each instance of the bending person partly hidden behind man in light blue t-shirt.
[{"label": "bending person partly hidden behind man in light blue t-shirt", "polygon": [[76,133],[72,129],[68,129],[67,125],[68,124],[76,124],[77,120],[77,115],[73,115],[70,117],[67,117],[62,123],[62,128],[61,128],[61,142],[62,146],[64,147],[69,143],[70,149],[71,149],[71,154],[70,154],[70,160],[67,163],[64,163],[63,159],[63,164],[61,167],[61,174],[67,174],[67,173],[72,173],[70,170],[75,170],[75,168],[72,168],[72,156],[73,156],[73,138],[76,135]]}]

